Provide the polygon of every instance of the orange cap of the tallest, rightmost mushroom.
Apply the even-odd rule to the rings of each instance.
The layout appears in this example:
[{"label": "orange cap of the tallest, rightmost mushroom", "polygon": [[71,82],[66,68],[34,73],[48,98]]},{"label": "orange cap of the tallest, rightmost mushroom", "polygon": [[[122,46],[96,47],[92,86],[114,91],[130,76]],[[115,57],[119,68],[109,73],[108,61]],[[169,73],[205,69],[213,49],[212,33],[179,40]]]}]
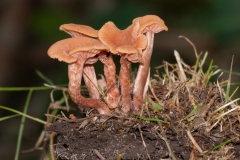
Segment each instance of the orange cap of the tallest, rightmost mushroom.
[{"label": "orange cap of the tallest, rightmost mushroom", "polygon": [[165,25],[164,21],[156,15],[146,15],[143,17],[138,17],[133,20],[133,24],[139,21],[140,28],[138,33],[153,32],[158,33],[163,30],[167,31],[168,28]]}]

